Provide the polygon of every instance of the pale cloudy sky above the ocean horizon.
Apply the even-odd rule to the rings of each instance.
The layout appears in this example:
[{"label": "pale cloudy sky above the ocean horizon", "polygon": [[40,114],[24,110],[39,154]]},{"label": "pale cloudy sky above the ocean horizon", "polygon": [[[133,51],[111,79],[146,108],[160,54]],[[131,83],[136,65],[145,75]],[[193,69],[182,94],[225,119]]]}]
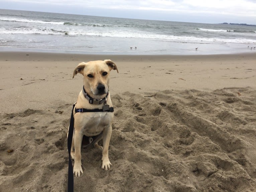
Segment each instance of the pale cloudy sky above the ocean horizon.
[{"label": "pale cloudy sky above the ocean horizon", "polygon": [[134,19],[256,24],[256,0],[0,0],[0,8]]}]

